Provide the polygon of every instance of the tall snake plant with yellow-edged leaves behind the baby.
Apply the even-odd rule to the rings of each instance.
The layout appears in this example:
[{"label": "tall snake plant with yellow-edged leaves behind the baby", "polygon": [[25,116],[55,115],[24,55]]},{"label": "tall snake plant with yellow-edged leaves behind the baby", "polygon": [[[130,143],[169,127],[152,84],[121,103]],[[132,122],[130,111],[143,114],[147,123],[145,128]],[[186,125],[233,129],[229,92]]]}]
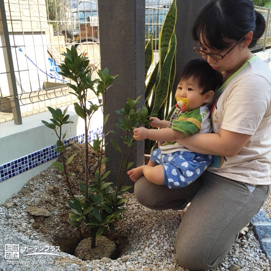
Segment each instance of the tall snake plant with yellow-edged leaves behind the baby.
[{"label": "tall snake plant with yellow-edged leaves behind the baby", "polygon": [[[153,114],[160,119],[169,117],[172,103],[174,103],[172,87],[176,73],[176,35],[174,32],[176,17],[176,0],[173,0],[159,36],[160,60],[152,72],[149,71],[153,62],[152,37],[145,48],[145,105],[149,114]],[[145,140],[146,154],[151,152],[154,144],[155,142],[152,140]]]}]

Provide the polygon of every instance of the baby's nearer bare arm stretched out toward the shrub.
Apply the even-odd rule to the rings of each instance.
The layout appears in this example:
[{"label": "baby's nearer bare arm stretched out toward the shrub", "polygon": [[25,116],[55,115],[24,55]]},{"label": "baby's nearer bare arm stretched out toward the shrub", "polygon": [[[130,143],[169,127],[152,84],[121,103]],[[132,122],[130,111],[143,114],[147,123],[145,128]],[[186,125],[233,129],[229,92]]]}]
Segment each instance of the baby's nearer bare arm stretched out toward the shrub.
[{"label": "baby's nearer bare arm stretched out toward the shrub", "polygon": [[164,129],[146,129],[144,127],[135,128],[133,137],[135,140],[150,139],[155,141],[176,141],[185,135],[171,128]]}]

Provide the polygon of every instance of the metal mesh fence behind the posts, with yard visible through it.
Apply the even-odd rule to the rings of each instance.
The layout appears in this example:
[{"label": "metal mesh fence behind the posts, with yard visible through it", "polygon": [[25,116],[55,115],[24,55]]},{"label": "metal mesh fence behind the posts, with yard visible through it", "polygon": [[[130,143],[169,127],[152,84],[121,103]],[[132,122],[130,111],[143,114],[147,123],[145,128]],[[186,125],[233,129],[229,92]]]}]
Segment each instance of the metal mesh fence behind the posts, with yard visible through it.
[{"label": "metal mesh fence behind the posts, with yard visible through it", "polygon": [[[159,34],[172,0],[146,0],[145,38]],[[59,74],[61,55],[75,45],[90,59],[92,75],[100,64],[97,0],[0,1],[0,123],[75,102]],[[253,49],[271,46],[270,9],[257,7],[267,22],[265,35]],[[91,94],[89,98],[92,98]]]}]

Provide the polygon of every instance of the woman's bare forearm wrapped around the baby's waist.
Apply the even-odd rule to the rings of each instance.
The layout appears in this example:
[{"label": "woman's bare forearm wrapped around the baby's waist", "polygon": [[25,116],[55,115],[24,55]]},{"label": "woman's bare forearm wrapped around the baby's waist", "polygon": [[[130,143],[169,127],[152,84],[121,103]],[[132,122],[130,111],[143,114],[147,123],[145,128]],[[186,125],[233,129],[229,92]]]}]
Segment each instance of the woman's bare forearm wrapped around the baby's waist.
[{"label": "woman's bare forearm wrapped around the baby's waist", "polygon": [[177,142],[194,152],[233,157],[245,146],[250,137],[251,135],[221,129],[220,134],[198,133],[177,139]]}]

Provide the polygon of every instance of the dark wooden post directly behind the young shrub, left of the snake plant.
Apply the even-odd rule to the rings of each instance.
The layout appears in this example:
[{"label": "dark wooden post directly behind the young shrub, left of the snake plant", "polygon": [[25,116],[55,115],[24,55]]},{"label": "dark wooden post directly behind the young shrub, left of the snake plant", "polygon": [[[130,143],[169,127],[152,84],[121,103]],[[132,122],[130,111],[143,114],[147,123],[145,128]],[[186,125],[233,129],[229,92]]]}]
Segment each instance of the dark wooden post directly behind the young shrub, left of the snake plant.
[{"label": "dark wooden post directly behind the young shrub, left of the snake plant", "polygon": [[[106,163],[106,170],[111,170],[110,182],[116,184],[120,167],[121,153],[112,145],[114,138],[123,146],[124,135],[115,127],[120,115],[116,110],[124,108],[127,98],[135,100],[142,96],[138,106],[144,104],[145,82],[145,0],[98,0],[99,32],[102,69],[108,68],[110,75],[119,75],[106,94],[105,115],[110,113],[105,125],[105,134],[111,130],[116,134],[109,134],[105,138],[108,143],[105,155],[110,159]],[[132,136],[132,135],[131,135]],[[130,161],[134,167],[144,163],[144,141],[135,141]],[[126,174],[125,185],[133,185]]]}]

